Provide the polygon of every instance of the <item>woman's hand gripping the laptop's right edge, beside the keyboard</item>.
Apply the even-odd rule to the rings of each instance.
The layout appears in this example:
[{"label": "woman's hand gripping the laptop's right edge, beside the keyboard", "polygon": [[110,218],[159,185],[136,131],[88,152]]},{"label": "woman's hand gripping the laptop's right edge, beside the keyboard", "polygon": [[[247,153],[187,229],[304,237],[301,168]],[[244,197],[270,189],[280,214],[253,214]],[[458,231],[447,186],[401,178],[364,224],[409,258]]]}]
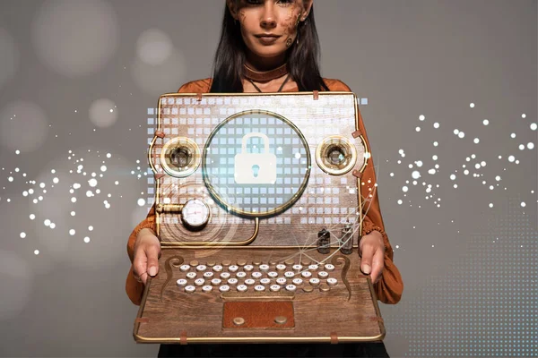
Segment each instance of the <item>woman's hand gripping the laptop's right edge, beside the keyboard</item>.
[{"label": "woman's hand gripping the laptop's right edge, beside the keyboard", "polygon": [[372,231],[362,236],[359,243],[360,270],[369,275],[374,284],[379,281],[385,268],[385,244],[383,235]]}]

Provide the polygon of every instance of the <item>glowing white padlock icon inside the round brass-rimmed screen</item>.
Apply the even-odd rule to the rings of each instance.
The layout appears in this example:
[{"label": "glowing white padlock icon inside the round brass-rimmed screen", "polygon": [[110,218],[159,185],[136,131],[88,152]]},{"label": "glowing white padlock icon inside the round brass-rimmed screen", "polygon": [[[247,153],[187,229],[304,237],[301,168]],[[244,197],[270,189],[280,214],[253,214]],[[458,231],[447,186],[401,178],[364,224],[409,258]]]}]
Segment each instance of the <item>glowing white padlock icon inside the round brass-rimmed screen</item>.
[{"label": "glowing white padlock icon inside the round brass-rimmed screen", "polygon": [[[259,137],[264,141],[264,153],[248,153],[249,138]],[[276,156],[269,153],[269,138],[264,133],[251,132],[243,137],[241,152],[236,154],[234,179],[238,184],[276,183]]]}]

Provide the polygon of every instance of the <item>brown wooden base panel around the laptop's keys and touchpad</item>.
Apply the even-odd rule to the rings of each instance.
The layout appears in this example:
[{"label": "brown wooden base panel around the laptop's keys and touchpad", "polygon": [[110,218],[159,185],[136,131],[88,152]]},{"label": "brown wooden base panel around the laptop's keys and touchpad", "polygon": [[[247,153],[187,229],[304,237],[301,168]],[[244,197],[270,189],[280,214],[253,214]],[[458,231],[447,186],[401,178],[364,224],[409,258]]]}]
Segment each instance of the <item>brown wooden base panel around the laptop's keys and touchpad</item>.
[{"label": "brown wooden base panel around the laptop's keys and touchpad", "polygon": [[[322,255],[316,250],[227,248],[212,251],[194,249],[162,250],[160,271],[146,286],[143,303],[134,323],[134,337],[138,342],[153,343],[217,343],[217,342],[330,342],[331,336],[339,342],[375,341],[385,336],[385,329],[373,294],[369,277],[360,272],[357,251],[343,255],[332,250]],[[177,258],[177,260],[172,260]],[[295,263],[334,263],[330,277],[338,284],[327,292],[314,286],[312,292],[298,290],[279,292],[221,294],[218,290],[203,293],[200,288],[192,294],[176,285],[178,278],[185,277],[180,264],[196,260],[200,264],[221,263],[230,260],[246,260],[247,263],[266,263],[269,271],[275,263],[294,260]],[[165,263],[169,260],[169,267]],[[170,262],[175,265],[170,265]],[[290,266],[290,262],[288,262]],[[241,270],[241,269],[239,269]],[[234,277],[236,274],[232,274]],[[198,275],[198,277],[200,277]],[[282,276],[282,275],[279,275]],[[265,275],[266,277],[266,275]],[[240,281],[240,280],[239,280]],[[323,279],[321,280],[323,283]],[[303,286],[309,286],[303,284]],[[326,286],[324,286],[326,289]],[[283,293],[282,293],[283,292]],[[242,300],[277,301],[291,300],[294,310],[294,328],[290,329],[224,329],[222,328],[223,303]],[[282,297],[283,296],[283,297]],[[228,297],[228,298],[223,298]],[[291,298],[290,298],[291,297]],[[264,314],[264,312],[260,312]]]}]

